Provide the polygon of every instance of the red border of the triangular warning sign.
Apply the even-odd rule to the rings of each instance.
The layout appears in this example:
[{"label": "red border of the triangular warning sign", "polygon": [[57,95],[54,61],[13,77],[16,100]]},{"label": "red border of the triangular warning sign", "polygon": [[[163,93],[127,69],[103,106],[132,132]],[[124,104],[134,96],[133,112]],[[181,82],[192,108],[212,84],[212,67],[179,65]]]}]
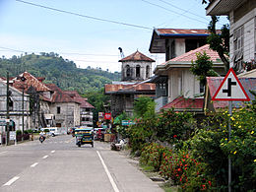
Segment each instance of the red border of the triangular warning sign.
[{"label": "red border of the triangular warning sign", "polygon": [[[243,94],[246,96],[246,98],[216,98],[216,96],[219,94],[220,90],[222,89],[225,80],[227,79],[228,75],[232,73],[234,78],[236,79],[237,83],[239,84],[240,88],[242,89]],[[235,75],[233,68],[230,68],[227,72],[227,74],[224,77],[224,80],[221,84],[221,86],[218,88],[218,90],[215,93],[215,96],[213,96],[212,100],[237,100],[237,101],[249,101],[250,97],[246,94],[245,90],[243,89],[243,86],[241,85],[240,81],[238,80],[237,76]]]}]

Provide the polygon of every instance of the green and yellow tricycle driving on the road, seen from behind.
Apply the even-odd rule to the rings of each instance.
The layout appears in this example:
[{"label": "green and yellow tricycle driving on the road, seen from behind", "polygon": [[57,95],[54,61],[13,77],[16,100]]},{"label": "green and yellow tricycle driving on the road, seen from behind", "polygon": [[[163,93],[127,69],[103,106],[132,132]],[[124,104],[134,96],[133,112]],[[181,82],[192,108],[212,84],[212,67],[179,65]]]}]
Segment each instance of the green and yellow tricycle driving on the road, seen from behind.
[{"label": "green and yellow tricycle driving on the road, seen from behind", "polygon": [[94,148],[94,132],[91,128],[75,129],[76,145],[81,147],[84,144],[91,144]]}]

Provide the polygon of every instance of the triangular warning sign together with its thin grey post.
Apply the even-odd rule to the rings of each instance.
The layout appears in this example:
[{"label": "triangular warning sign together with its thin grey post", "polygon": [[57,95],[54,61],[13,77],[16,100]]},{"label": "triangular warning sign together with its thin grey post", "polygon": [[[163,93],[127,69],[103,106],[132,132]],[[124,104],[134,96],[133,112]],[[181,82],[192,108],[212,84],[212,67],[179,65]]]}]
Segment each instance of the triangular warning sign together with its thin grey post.
[{"label": "triangular warning sign together with its thin grey post", "polygon": [[[224,81],[213,96],[212,100],[228,100],[228,141],[231,139],[231,115],[232,100],[249,101],[250,98],[244,91],[240,81],[232,68],[229,69],[224,77]],[[228,157],[228,192],[231,192],[231,159]]]}]

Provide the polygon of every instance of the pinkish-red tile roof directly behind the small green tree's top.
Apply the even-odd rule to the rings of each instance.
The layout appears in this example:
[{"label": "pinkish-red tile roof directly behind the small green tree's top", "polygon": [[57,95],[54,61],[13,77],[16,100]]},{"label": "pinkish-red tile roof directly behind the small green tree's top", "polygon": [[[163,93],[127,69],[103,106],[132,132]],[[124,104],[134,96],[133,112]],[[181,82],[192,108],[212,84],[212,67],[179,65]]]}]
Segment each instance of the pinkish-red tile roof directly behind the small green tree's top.
[{"label": "pinkish-red tile roof directly behind the small green tree's top", "polygon": [[195,60],[197,60],[196,53],[198,53],[198,52],[200,52],[200,53],[206,52],[206,54],[209,57],[211,57],[211,60],[214,61],[214,62],[216,62],[218,60],[221,61],[221,58],[220,58],[218,52],[210,49],[210,45],[209,44],[205,44],[205,45],[203,45],[203,46],[201,46],[199,48],[196,48],[194,50],[186,52],[186,53],[184,53],[184,54],[182,54],[180,56],[177,56],[177,57],[175,57],[173,59],[170,59],[170,60],[164,62],[163,64],[165,64],[165,63],[167,63],[169,61],[188,61],[188,62],[191,62],[192,60],[195,61]]}]

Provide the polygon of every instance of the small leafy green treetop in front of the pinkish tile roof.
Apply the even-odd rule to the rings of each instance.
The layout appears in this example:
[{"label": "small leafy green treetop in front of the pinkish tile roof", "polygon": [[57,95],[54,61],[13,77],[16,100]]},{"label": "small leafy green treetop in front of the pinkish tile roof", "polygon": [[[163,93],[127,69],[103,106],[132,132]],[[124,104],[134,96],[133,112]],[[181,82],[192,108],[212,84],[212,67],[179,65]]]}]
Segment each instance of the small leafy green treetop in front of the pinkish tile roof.
[{"label": "small leafy green treetop in front of the pinkish tile roof", "polygon": [[192,65],[190,71],[195,75],[198,76],[198,80],[204,86],[206,85],[206,77],[215,77],[218,76],[213,70],[213,61],[211,61],[211,57],[209,57],[206,52],[203,54],[198,52],[196,53],[197,60],[194,62],[192,61]]}]

